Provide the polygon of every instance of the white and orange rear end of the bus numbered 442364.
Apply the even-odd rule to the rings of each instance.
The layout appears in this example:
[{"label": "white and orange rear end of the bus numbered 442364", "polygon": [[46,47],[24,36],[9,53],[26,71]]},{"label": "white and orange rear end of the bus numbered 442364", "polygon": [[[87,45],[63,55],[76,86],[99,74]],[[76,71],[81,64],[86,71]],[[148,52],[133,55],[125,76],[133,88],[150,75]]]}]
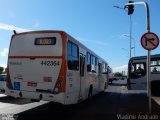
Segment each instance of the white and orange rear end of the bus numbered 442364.
[{"label": "white and orange rear end of the bus numbered 442364", "polygon": [[62,33],[28,32],[12,36],[8,95],[64,104],[66,72]]}]

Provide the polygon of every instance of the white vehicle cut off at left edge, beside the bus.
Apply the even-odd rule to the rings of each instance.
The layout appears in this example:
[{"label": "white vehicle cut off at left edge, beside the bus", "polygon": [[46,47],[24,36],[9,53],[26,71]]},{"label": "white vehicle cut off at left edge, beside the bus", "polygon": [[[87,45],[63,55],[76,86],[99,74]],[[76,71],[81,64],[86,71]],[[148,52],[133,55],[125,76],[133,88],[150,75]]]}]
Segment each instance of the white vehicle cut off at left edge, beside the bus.
[{"label": "white vehicle cut off at left edge, beside the bus", "polygon": [[0,74],[0,91],[5,92],[6,89],[6,74]]}]

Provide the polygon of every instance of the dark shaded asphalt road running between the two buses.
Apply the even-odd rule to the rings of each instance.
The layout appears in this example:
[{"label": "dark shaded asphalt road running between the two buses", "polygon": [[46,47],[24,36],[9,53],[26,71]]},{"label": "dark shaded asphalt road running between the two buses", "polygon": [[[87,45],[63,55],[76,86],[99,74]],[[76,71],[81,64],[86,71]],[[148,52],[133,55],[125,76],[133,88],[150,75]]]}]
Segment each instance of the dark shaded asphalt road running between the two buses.
[{"label": "dark shaded asphalt road running between the two buses", "polygon": [[28,101],[23,105],[36,105],[30,109],[15,112],[14,118],[17,120],[149,120],[151,117],[160,119],[160,98],[153,97],[152,113],[149,114],[146,91],[128,91],[125,84],[125,80],[114,81],[105,92],[94,96],[91,101],[86,100],[76,105],[64,106],[44,101],[39,104]]}]

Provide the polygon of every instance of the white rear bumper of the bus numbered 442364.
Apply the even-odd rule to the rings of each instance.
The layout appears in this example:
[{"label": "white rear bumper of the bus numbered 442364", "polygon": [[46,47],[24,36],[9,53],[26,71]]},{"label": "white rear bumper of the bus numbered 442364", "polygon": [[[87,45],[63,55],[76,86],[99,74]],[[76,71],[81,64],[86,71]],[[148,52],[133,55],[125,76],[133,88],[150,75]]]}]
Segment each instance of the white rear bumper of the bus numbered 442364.
[{"label": "white rear bumper of the bus numbered 442364", "polygon": [[41,93],[41,92],[31,92],[31,91],[19,91],[19,90],[6,90],[8,96],[15,98],[27,98],[35,100],[53,101],[64,104],[65,95],[64,93],[51,94],[51,93]]}]

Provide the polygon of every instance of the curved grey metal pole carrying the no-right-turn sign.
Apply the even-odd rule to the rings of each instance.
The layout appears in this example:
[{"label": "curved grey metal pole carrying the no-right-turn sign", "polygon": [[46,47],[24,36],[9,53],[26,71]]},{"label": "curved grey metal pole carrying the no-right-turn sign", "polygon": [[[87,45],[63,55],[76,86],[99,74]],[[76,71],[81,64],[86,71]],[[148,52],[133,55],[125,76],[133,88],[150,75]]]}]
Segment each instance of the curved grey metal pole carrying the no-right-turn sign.
[{"label": "curved grey metal pole carrying the no-right-turn sign", "polygon": [[[134,3],[127,3],[125,6],[129,5],[141,5],[143,4],[146,8],[146,13],[147,13],[147,32],[150,32],[150,15],[149,15],[149,6],[147,2],[134,2]],[[148,108],[149,108],[149,113],[151,113],[151,81],[150,81],[150,55],[151,51],[148,50],[148,56],[147,56],[147,95],[148,95]]]}]

